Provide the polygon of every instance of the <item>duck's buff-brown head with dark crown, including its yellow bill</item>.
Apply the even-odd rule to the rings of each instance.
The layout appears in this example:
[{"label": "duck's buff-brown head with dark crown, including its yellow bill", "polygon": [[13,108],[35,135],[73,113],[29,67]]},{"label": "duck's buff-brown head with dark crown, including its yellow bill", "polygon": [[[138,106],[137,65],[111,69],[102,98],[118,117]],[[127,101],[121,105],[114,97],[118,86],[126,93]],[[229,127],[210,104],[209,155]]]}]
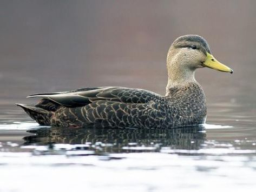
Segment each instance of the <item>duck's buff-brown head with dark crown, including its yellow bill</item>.
[{"label": "duck's buff-brown head with dark crown, including its yellow bill", "polygon": [[167,68],[173,83],[194,79],[195,69],[204,67],[233,73],[231,68],[213,57],[208,43],[199,35],[181,36],[170,46]]}]

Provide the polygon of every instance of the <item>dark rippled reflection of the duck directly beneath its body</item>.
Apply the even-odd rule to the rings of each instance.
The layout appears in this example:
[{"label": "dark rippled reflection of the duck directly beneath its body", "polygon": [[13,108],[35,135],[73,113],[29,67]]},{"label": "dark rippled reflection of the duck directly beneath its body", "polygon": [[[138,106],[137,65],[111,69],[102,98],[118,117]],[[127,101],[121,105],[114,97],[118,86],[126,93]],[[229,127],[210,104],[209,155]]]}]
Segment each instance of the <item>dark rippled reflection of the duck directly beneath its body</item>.
[{"label": "dark rippled reflection of the duck directly beneath its body", "polygon": [[28,132],[35,135],[24,137],[25,145],[90,143],[91,146],[95,146],[95,144],[101,143],[102,150],[110,153],[150,151],[150,149],[157,151],[161,147],[199,149],[206,139],[205,128],[202,125],[178,129],[70,129],[51,127],[28,130]]}]

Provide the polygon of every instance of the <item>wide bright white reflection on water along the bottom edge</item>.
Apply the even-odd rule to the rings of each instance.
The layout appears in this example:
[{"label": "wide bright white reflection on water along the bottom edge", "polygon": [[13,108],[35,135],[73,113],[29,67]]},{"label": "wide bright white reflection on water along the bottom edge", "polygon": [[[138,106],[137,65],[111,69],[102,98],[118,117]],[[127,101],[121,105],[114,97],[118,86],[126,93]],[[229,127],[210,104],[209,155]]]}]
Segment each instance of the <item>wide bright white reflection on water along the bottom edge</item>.
[{"label": "wide bright white reflection on water along the bottom edge", "polygon": [[0,191],[253,191],[256,187],[255,155],[111,156],[122,158],[0,153]]}]

